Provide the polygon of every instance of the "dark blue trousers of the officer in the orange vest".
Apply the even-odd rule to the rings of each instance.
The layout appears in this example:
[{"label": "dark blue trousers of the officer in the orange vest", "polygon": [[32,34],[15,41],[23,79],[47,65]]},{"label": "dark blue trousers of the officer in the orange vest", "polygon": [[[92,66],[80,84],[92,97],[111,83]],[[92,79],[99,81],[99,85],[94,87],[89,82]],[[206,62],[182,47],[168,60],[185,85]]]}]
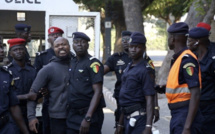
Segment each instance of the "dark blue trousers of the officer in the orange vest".
[{"label": "dark blue trousers of the officer in the orange vest", "polygon": [[[188,106],[178,108],[176,110],[171,110],[172,119],[170,121],[170,134],[182,133],[186,122],[187,114]],[[202,134],[202,121],[202,114],[198,110],[191,126],[191,134]]]}]

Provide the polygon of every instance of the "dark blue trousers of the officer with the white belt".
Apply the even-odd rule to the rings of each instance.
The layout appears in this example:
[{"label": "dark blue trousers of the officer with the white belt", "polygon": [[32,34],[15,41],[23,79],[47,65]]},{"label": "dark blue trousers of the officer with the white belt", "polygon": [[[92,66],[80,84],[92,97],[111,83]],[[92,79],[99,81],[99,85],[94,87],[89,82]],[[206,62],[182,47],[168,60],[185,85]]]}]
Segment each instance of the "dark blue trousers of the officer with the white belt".
[{"label": "dark blue trousers of the officer with the white belt", "polygon": [[132,118],[136,119],[134,127],[130,126],[130,119],[124,117],[125,134],[142,134],[143,130],[146,127],[146,115],[138,115]]}]

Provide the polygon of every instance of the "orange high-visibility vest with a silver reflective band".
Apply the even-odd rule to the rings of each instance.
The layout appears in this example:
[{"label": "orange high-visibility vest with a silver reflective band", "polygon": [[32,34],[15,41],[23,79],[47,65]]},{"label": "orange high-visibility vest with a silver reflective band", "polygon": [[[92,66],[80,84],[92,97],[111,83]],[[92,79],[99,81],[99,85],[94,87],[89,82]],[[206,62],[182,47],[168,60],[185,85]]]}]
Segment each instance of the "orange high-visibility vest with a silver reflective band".
[{"label": "orange high-visibility vest with a silver reflective band", "polygon": [[[179,84],[179,69],[182,58],[186,54],[189,54],[195,59],[197,59],[195,54],[193,54],[190,50],[185,50],[184,52],[181,53],[181,55],[176,59],[175,63],[172,65],[166,85],[166,97],[168,99],[169,104],[190,100],[191,94],[187,83]],[[201,88],[202,84],[200,67],[199,67],[199,83]]]}]

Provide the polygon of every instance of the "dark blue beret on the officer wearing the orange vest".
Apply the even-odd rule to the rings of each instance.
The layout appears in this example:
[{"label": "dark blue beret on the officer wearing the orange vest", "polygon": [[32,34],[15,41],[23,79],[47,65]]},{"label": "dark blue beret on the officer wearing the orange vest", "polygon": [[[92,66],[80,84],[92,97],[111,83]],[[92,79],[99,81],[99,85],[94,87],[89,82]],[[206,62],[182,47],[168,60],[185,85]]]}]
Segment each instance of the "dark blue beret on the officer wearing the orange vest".
[{"label": "dark blue beret on the officer wearing the orange vest", "polygon": [[168,28],[170,34],[187,34],[189,26],[184,22],[174,23]]}]

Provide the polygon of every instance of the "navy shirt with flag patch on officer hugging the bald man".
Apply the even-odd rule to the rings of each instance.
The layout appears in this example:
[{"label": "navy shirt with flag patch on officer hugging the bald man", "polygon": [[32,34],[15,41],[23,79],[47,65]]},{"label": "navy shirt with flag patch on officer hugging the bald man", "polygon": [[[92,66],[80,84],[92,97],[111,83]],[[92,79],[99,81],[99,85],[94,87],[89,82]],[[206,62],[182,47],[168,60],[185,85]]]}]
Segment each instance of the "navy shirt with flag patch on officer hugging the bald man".
[{"label": "navy shirt with flag patch on officer hugging the bald man", "polygon": [[[104,67],[102,63],[90,55],[82,57],[79,61],[74,58],[71,61],[70,72],[68,103],[73,109],[89,107],[94,95],[92,85],[103,83]],[[98,107],[104,106],[105,102],[102,97]]]}]

